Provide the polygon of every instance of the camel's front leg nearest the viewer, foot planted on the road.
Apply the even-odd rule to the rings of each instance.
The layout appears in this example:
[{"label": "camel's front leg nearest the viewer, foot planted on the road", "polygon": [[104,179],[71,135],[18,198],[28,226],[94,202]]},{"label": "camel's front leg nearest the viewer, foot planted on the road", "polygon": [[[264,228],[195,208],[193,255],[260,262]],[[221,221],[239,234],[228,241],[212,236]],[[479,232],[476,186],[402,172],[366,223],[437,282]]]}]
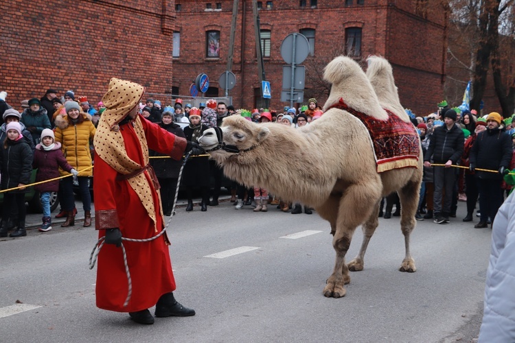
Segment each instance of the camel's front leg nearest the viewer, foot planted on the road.
[{"label": "camel's front leg nearest the viewer, foot planted on the road", "polygon": [[345,255],[349,250],[354,230],[363,222],[363,217],[367,218],[371,214],[376,199],[380,196],[378,189],[380,187],[374,185],[374,182],[367,182],[365,185],[352,185],[347,187],[345,196],[340,200],[336,232],[332,239],[332,246],[336,251],[336,261],[333,272],[323,288],[323,295],[328,298],[345,296],[346,290],[343,285],[346,281],[350,281],[349,268],[345,264]]}]

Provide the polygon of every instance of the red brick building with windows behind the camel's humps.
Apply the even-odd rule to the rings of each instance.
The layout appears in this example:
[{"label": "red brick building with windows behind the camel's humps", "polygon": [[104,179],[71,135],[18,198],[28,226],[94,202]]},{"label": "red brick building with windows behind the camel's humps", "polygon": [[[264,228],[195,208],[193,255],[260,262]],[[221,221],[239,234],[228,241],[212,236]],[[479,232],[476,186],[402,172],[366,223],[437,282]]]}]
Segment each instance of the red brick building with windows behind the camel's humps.
[{"label": "red brick building with windows behind the camel's humps", "polygon": [[[258,1],[266,80],[271,82],[271,108],[280,102],[282,40],[301,32],[310,41],[304,102],[316,96],[323,104],[327,85],[319,82],[334,56],[352,54],[363,60],[384,56],[392,66],[402,104],[426,115],[442,100],[445,74],[446,19],[433,0],[271,0]],[[232,0],[176,0],[174,78],[176,94],[187,94],[198,73],[211,80],[209,95],[223,95],[218,78],[226,69]],[[314,44],[311,44],[314,43]],[[252,1],[240,1],[233,50],[236,87],[229,91],[236,108],[262,106],[258,78]]]}]

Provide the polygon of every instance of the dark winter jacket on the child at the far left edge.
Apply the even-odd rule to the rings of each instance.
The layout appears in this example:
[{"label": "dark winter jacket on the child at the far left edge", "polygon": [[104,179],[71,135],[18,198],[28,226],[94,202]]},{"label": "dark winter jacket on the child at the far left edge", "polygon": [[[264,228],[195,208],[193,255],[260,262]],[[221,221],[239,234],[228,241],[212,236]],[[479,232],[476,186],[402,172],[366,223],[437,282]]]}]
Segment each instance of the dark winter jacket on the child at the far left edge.
[{"label": "dark winter jacket on the child at the far left edge", "polygon": [[[7,147],[4,147],[4,145]],[[8,141],[2,143],[0,164],[1,164],[1,189],[10,189],[18,187],[20,183],[23,185],[30,184],[30,176],[32,174],[32,150],[25,139],[21,138],[17,141]],[[17,189],[12,193],[25,193],[27,189]]]}]

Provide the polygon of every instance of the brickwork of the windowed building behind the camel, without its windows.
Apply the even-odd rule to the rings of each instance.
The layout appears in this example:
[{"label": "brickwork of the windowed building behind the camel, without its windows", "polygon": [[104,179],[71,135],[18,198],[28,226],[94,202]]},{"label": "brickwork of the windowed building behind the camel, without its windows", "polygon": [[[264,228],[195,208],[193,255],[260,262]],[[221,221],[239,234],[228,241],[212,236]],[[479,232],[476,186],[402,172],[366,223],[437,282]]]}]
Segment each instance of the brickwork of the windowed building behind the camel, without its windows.
[{"label": "brickwork of the windowed building behind the camel, without its windows", "polygon": [[[218,86],[220,73],[225,71],[231,26],[233,1],[209,1],[215,8],[222,3],[221,11],[205,11],[205,2],[176,0],[181,12],[176,13],[176,29],[181,32],[181,56],[174,59],[174,86],[187,94],[198,73],[207,73],[212,86]],[[303,27],[316,29],[315,61],[333,57],[342,51],[345,27],[363,29],[362,56],[385,56],[394,65],[400,99],[405,107],[415,113],[429,113],[442,98],[442,49],[444,17],[441,12],[428,12],[428,20],[414,14],[411,1],[376,0],[365,5],[343,6],[344,1],[319,0],[317,8],[299,8],[298,0],[273,1],[273,9],[260,10],[262,29],[271,29],[271,57],[265,59],[266,79],[271,82],[271,108],[282,108],[280,102],[282,66],[280,55],[282,40]],[[355,3],[356,1],[354,1]],[[253,108],[254,88],[258,84],[258,67],[255,60],[255,38],[251,1],[245,0],[245,29],[242,32],[243,8],[240,2],[233,56],[233,73],[236,87],[229,91],[236,108]],[[263,5],[266,1],[262,1]],[[430,0],[430,3],[437,1]],[[396,7],[397,6],[397,7]],[[436,23],[433,23],[435,21]],[[207,25],[220,27],[220,59],[205,58],[205,31]],[[211,27],[211,26],[209,26]],[[415,29],[416,27],[416,29]],[[414,36],[415,35],[415,36]],[[242,40],[243,36],[243,40]],[[242,63],[243,41],[243,63]],[[426,45],[426,47],[421,47]],[[304,64],[308,65],[308,61]],[[308,71],[306,71],[308,72]],[[306,87],[310,87],[306,84]],[[223,94],[222,88],[219,94]],[[420,95],[423,99],[417,99]],[[307,101],[307,98],[304,99]],[[319,99],[323,104],[325,99]]]}]

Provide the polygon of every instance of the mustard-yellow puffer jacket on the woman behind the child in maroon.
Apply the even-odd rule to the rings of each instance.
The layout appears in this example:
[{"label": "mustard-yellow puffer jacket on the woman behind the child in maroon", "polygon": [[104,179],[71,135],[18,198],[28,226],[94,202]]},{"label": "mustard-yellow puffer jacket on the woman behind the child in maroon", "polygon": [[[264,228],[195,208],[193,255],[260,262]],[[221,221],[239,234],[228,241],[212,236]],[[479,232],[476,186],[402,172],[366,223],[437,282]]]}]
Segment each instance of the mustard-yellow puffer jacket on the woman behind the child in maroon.
[{"label": "mustard-yellow puffer jacket on the woman behind the child in maroon", "polygon": [[[95,136],[95,126],[91,122],[91,115],[80,113],[84,118],[82,123],[69,123],[67,115],[57,115],[56,117],[56,142],[62,144],[62,154],[65,155],[66,161],[79,171],[79,176],[92,176],[93,168],[82,171],[82,169],[91,167],[91,152],[89,150],[89,140]],[[59,168],[61,176],[69,175],[69,172]]]}]

